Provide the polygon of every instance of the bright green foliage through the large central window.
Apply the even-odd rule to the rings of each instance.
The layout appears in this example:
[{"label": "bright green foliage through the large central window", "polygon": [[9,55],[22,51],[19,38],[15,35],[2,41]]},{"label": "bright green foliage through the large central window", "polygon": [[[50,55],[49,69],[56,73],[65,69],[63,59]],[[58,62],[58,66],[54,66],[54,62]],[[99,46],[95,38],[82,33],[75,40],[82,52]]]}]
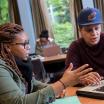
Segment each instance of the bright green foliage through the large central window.
[{"label": "bright green foliage through the large central window", "polygon": [[69,0],[46,0],[55,42],[61,47],[68,47],[74,39],[70,20]]}]

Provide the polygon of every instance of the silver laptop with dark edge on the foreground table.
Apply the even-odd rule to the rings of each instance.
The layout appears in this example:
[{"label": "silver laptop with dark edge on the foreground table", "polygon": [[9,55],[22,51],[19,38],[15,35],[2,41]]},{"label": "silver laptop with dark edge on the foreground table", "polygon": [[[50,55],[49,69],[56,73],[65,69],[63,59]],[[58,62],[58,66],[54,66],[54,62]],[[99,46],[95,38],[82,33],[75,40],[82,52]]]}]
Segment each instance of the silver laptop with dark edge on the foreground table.
[{"label": "silver laptop with dark edge on the foreground table", "polygon": [[76,94],[90,98],[104,99],[104,80],[99,85],[89,85],[80,88],[76,91]]}]

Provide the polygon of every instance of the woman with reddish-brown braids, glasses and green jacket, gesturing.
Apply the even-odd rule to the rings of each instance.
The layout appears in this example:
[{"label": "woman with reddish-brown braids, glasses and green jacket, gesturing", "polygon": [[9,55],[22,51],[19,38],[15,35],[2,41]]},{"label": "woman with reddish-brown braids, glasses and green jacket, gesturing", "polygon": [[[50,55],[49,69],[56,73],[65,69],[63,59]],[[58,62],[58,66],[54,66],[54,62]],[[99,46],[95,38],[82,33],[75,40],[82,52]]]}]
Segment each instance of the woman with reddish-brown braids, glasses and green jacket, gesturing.
[{"label": "woman with reddish-brown braids, glasses and green jacket, gesturing", "polygon": [[48,104],[63,89],[78,83],[79,77],[92,70],[85,64],[71,71],[71,63],[62,78],[53,84],[35,80],[32,70],[28,80],[17,66],[17,59],[27,61],[29,50],[28,36],[20,25],[6,23],[0,26],[0,104]]}]

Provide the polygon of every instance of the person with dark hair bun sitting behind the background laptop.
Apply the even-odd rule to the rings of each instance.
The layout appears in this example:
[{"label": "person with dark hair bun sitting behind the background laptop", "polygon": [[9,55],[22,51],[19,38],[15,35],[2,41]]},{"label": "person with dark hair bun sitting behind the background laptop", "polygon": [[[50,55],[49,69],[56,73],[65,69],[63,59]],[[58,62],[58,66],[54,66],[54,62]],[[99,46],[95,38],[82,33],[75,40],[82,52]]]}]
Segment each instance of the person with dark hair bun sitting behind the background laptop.
[{"label": "person with dark hair bun sitting behind the background laptop", "polygon": [[36,54],[43,56],[42,48],[47,48],[53,44],[55,43],[53,42],[53,39],[49,37],[48,30],[43,30],[39,39],[36,41]]}]

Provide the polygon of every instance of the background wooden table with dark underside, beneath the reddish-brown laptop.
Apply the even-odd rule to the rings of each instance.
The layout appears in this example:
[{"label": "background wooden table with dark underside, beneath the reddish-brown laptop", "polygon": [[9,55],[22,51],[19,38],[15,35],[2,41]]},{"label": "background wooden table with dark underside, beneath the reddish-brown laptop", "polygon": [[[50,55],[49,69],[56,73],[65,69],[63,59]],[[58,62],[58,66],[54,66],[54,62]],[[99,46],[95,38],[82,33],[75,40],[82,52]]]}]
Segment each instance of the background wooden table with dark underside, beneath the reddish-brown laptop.
[{"label": "background wooden table with dark underside, beneath the reddish-brown laptop", "polygon": [[59,54],[56,56],[45,57],[42,60],[45,70],[48,74],[56,74],[57,72],[61,72],[65,68],[65,59],[66,54]]}]

